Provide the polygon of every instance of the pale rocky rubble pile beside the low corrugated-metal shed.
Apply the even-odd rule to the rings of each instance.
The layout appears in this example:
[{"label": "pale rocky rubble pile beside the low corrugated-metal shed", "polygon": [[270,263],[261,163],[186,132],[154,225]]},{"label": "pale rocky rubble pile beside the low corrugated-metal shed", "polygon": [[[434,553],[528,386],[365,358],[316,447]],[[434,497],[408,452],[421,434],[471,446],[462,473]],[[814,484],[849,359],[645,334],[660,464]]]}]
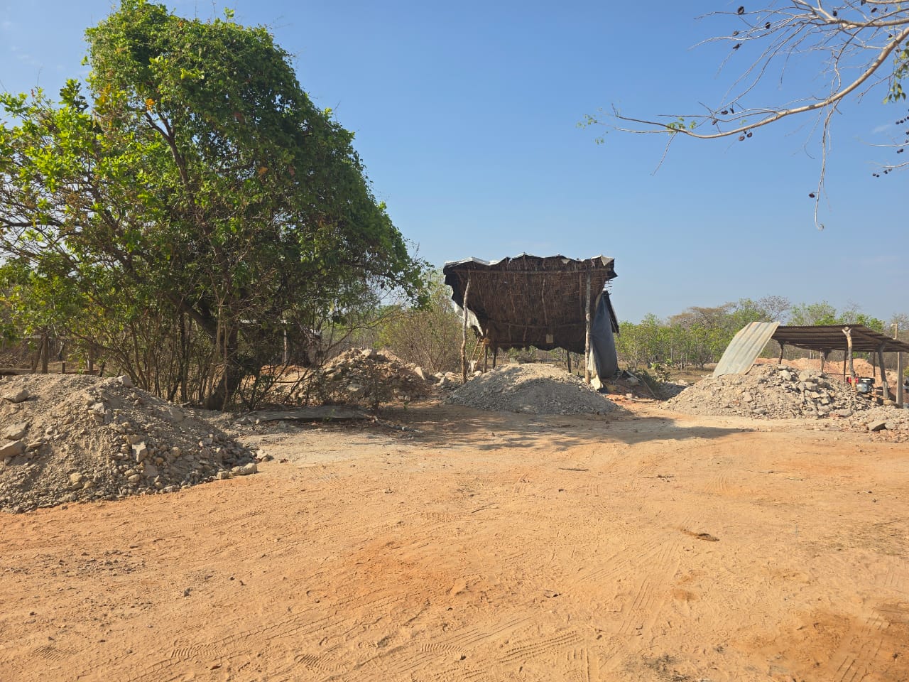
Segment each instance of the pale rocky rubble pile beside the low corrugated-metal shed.
[{"label": "pale rocky rubble pile beside the low corrugated-metal shed", "polygon": [[708,377],[664,405],[692,415],[739,415],[761,419],[853,416],[869,400],[837,379],[812,369],[755,365],[746,375]]}]

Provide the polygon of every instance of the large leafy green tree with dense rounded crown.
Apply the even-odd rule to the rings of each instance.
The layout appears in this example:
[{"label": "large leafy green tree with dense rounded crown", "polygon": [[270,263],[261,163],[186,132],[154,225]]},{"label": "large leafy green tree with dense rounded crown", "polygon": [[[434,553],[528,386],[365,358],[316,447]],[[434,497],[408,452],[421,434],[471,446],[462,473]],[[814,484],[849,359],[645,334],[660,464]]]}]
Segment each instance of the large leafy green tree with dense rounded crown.
[{"label": "large leafy green tree with dense rounded crown", "polygon": [[210,407],[282,329],[336,321],[377,288],[423,295],[353,135],[265,28],[124,0],[86,35],[87,87],[0,98],[7,266],[107,325],[152,303],[190,321],[219,367]]}]

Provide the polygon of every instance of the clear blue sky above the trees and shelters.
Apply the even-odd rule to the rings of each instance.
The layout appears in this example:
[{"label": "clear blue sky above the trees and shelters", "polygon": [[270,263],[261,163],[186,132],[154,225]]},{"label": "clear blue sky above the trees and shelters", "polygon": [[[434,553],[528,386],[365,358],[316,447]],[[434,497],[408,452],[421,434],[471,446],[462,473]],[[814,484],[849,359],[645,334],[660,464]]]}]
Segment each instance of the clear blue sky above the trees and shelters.
[{"label": "clear blue sky above the trees and shelters", "polygon": [[[873,178],[871,162],[894,156],[870,146],[887,142],[906,106],[874,95],[837,117],[824,231],[808,197],[820,169],[812,120],[744,144],[678,140],[656,173],[657,136],[610,133],[596,145],[601,131],[576,127],[600,106],[648,116],[716,101],[738,64],[718,72],[728,47],[693,48],[728,30],[695,17],[734,4],[167,5],[203,19],[232,6],[238,23],[268,25],[305,90],[355,131],[375,195],[436,266],[522,252],[613,256],[614,306],[629,321],[769,295],[854,304],[884,320],[909,313],[909,175]],[[85,27],[111,6],[0,0],[0,87],[55,94],[85,75]],[[811,67],[795,66],[786,83],[804,77],[812,82]]]}]

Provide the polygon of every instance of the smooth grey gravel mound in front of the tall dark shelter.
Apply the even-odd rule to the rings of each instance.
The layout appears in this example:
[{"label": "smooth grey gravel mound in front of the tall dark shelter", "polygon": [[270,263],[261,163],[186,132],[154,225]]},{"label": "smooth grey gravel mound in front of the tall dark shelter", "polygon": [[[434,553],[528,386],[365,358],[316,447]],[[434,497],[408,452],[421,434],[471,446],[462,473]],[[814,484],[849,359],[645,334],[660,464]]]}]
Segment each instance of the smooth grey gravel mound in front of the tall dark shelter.
[{"label": "smooth grey gravel mound in front of the tall dark shelter", "polygon": [[503,366],[474,376],[447,402],[532,415],[603,415],[618,408],[578,377],[543,364]]}]

